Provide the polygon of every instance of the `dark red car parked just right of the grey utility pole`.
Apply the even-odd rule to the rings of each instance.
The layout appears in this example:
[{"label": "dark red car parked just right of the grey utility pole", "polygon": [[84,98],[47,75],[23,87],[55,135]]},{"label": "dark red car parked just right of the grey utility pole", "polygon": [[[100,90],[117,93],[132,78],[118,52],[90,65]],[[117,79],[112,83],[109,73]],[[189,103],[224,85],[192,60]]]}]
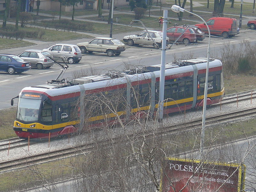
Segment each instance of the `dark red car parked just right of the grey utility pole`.
[{"label": "dark red car parked just right of the grey utility pole", "polygon": [[185,33],[177,40],[184,44],[190,44],[196,42],[196,33],[192,28],[187,28],[185,26],[174,26],[167,29],[167,36],[170,41],[175,41],[180,34],[185,31]]}]

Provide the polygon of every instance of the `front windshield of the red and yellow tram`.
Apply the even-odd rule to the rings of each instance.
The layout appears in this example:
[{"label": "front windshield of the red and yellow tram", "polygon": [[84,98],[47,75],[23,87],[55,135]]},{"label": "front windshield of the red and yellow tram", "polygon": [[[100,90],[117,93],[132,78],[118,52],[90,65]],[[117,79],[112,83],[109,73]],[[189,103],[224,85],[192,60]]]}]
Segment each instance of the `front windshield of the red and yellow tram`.
[{"label": "front windshield of the red and yellow tram", "polygon": [[22,121],[37,121],[40,99],[20,98],[16,118]]}]

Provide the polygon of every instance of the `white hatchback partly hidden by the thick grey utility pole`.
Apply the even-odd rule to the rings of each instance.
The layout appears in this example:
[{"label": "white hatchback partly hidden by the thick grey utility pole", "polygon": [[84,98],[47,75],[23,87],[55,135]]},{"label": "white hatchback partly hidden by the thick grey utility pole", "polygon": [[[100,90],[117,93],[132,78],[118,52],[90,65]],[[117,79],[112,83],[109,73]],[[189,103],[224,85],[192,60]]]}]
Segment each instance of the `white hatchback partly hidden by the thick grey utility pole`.
[{"label": "white hatchback partly hidden by the thick grey utility pole", "polygon": [[[148,34],[149,33],[149,34]],[[124,36],[123,40],[124,42],[127,42],[129,46],[135,45],[135,44],[142,44],[142,45],[152,45],[154,46],[155,49],[159,49],[162,45],[162,40],[163,40],[163,33],[161,31],[153,31],[153,30],[148,30],[147,31],[142,31],[137,35],[129,35],[129,36]],[[154,39],[154,41],[151,39]],[[169,44],[169,38],[166,37],[166,45]]]}]

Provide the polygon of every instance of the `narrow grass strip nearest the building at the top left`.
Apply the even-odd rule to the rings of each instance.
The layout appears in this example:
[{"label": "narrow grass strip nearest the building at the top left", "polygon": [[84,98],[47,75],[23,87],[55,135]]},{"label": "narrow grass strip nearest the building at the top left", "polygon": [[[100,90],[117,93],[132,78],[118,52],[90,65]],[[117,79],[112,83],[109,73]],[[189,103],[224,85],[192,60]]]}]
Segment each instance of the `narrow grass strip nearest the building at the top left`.
[{"label": "narrow grass strip nearest the building at the top left", "polygon": [[[106,11],[102,11],[102,13],[105,13]],[[39,13],[47,13],[47,14],[54,14],[54,15],[60,15],[59,11],[45,11],[45,10],[39,10]],[[73,11],[62,11],[61,16],[68,16],[72,17]],[[82,9],[82,10],[75,10],[75,17],[76,16],[82,16],[82,15],[93,15],[98,14],[98,11],[91,10],[91,9]]]}]

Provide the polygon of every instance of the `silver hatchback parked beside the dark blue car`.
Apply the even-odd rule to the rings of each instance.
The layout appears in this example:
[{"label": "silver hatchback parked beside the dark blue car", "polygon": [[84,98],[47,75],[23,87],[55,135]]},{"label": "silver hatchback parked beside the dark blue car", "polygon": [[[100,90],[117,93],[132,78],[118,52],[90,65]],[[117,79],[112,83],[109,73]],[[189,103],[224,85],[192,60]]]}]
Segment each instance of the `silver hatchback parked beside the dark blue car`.
[{"label": "silver hatchback parked beside the dark blue car", "polygon": [[29,61],[31,67],[36,67],[37,69],[50,68],[54,64],[53,60],[51,60],[47,55],[50,53],[37,49],[29,49],[18,56],[25,60]]}]

